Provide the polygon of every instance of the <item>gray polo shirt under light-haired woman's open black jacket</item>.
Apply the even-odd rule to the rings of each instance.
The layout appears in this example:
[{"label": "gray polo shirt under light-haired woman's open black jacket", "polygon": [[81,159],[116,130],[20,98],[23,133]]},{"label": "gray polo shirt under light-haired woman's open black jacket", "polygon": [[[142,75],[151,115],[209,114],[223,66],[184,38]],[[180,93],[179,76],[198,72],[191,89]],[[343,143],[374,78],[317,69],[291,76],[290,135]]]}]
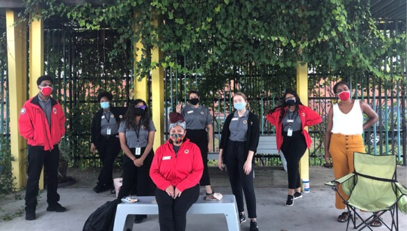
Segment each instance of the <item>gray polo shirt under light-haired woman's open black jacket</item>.
[{"label": "gray polo shirt under light-haired woman's open black jacket", "polygon": [[229,139],[231,141],[247,141],[247,129],[248,129],[248,110],[244,113],[244,116],[239,117],[237,111],[234,111],[233,118],[230,120]]}]

